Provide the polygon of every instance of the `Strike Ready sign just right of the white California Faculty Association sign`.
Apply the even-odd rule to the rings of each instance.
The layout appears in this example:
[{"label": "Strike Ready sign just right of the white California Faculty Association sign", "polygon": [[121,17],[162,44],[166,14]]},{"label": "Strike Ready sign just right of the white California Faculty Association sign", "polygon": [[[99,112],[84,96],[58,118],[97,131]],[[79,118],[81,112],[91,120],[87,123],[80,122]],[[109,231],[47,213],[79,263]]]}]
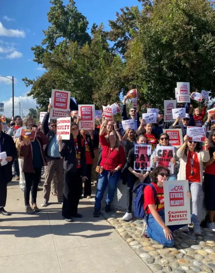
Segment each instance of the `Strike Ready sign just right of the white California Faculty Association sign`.
[{"label": "Strike Ready sign just right of the white California Faculty Association sign", "polygon": [[79,121],[79,130],[94,130],[95,129],[95,105],[94,104],[79,104],[78,112],[81,117]]}]

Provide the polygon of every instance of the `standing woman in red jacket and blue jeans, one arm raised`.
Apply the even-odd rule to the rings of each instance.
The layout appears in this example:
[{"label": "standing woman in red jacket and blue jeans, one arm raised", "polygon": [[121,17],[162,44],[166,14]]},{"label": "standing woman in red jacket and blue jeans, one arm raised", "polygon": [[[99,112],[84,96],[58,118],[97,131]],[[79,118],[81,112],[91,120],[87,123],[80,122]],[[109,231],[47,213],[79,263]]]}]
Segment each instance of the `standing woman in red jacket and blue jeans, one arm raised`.
[{"label": "standing woman in red jacket and blue jeans, one arm raised", "polygon": [[101,209],[101,201],[103,199],[104,192],[108,184],[108,195],[106,198],[105,211],[110,211],[110,203],[113,200],[117,181],[119,179],[121,169],[126,162],[126,154],[123,146],[120,142],[116,131],[108,131],[108,135],[105,136],[106,128],[101,126],[102,129],[99,133],[99,140],[103,146],[102,161],[100,166],[104,168],[102,174],[98,176],[98,186],[95,197],[94,217],[99,217]]}]

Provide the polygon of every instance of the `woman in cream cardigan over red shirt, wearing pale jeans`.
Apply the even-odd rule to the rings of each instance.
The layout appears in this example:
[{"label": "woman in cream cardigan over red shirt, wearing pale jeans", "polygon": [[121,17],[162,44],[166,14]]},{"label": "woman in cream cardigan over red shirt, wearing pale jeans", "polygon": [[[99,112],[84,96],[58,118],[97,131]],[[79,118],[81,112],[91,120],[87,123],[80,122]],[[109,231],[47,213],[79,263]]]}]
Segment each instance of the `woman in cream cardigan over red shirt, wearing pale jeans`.
[{"label": "woman in cream cardigan over red shirt, wearing pale jeans", "polygon": [[[205,138],[205,149],[200,150],[200,142],[189,141],[189,137],[184,137],[183,145],[178,149],[177,156],[180,158],[178,180],[188,180],[192,195],[193,214],[197,217],[194,223],[194,234],[201,234],[200,222],[202,212],[202,182],[203,182],[203,162],[210,160],[208,151],[208,139]],[[183,228],[184,232],[189,232],[188,226]]]}]

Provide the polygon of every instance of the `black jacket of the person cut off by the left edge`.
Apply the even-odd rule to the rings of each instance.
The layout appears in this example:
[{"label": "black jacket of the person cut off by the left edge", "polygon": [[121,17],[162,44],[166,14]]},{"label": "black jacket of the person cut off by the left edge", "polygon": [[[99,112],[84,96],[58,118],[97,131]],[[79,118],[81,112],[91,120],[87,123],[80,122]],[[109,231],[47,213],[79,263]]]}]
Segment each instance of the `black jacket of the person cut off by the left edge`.
[{"label": "black jacket of the person cut off by the left edge", "polygon": [[9,135],[6,135],[3,132],[0,133],[0,147],[1,153],[6,152],[7,156],[12,156],[13,158],[12,161],[8,162],[6,165],[4,166],[0,165],[0,183],[1,182],[9,183],[13,178],[12,164],[17,156],[17,149],[13,141],[13,138]]}]

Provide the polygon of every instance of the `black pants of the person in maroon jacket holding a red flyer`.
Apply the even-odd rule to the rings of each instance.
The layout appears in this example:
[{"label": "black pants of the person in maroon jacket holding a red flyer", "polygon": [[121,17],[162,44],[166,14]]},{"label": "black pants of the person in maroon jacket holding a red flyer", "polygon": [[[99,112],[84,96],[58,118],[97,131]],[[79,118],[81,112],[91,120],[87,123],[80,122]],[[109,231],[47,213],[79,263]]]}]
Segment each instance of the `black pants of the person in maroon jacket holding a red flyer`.
[{"label": "black pants of the person in maroon jacket holding a red flyer", "polygon": [[24,173],[25,188],[24,188],[24,204],[29,205],[30,191],[31,204],[37,203],[37,187],[41,177],[42,168],[34,168],[34,173]]}]

